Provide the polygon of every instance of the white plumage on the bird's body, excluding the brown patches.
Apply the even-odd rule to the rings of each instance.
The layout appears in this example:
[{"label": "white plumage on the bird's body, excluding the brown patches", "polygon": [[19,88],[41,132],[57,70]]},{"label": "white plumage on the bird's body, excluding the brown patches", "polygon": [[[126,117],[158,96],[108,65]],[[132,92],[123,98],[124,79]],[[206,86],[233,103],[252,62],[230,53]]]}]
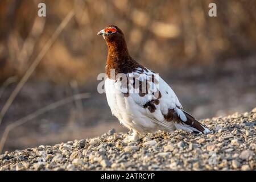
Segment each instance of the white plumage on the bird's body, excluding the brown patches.
[{"label": "white plumage on the bird's body, excluding the brown patches", "polygon": [[[153,90],[154,86],[159,89],[161,98],[159,98],[159,104],[155,104],[155,110],[152,112],[145,108],[144,105],[154,99],[154,95],[150,92],[145,94],[143,97],[139,96],[139,88],[134,88],[133,77],[137,80],[147,80],[148,77],[154,76],[155,81],[147,83],[150,85],[149,88]],[[138,67],[134,72],[127,73],[127,77],[130,80],[130,87],[127,89],[126,84],[123,84],[123,80],[118,78],[110,79],[106,78],[105,91],[108,104],[112,111],[112,114],[119,119],[119,122],[129,130],[133,130],[133,137],[129,140],[137,140],[138,134],[150,133],[158,130],[164,130],[172,132],[176,129],[183,129],[186,131],[197,131],[199,130],[187,125],[187,117],[182,110],[182,106],[171,87],[158,75],[149,69],[143,69]],[[123,77],[122,77],[123,78]],[[127,79],[128,81],[128,79]],[[155,84],[158,82],[158,84]],[[149,90],[150,90],[149,89]],[[129,90],[129,96],[126,97],[125,93]],[[178,117],[183,122],[167,122],[164,115],[168,113],[168,110],[174,109]],[[204,126],[203,126],[204,127]],[[209,133],[209,130],[204,127],[203,133]]]}]

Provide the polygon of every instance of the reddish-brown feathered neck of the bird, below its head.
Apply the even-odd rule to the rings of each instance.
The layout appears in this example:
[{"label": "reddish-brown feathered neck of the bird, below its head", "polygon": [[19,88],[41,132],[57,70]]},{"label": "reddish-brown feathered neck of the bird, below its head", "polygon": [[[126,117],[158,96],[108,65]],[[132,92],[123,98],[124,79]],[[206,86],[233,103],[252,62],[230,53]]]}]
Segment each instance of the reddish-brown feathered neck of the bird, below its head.
[{"label": "reddish-brown feathered neck of the bird, below its head", "polygon": [[115,75],[117,75],[118,73],[130,73],[139,66],[129,55],[123,35],[106,39],[106,43],[109,49],[108,59],[106,61],[106,75],[108,75],[109,78],[110,69],[114,69]]}]

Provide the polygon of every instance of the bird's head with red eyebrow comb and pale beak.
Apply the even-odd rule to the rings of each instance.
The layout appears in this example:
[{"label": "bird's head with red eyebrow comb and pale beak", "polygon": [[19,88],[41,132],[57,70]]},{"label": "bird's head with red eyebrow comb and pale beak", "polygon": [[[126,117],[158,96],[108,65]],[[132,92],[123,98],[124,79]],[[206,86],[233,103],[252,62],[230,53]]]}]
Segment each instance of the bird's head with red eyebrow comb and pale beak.
[{"label": "bird's head with red eyebrow comb and pale beak", "polygon": [[106,26],[104,29],[99,31],[97,35],[102,35],[107,43],[124,38],[123,32],[114,25]]}]

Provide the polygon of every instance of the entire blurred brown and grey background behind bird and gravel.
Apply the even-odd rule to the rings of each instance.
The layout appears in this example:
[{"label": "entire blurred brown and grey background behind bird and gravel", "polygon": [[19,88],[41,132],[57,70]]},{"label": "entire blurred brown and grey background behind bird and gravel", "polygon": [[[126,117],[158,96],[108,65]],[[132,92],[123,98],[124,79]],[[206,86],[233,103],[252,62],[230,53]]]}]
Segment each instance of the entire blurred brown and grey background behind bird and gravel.
[{"label": "entire blurred brown and grey background behind bird and gravel", "polygon": [[[46,3],[46,17],[38,3]],[[209,3],[217,17],[208,15]],[[256,106],[254,0],[2,0],[0,1],[0,110],[53,32],[75,13],[40,60],[0,125],[78,93],[89,98],[52,108],[13,127],[3,151],[127,131],[97,92],[107,47],[97,32],[115,24],[131,56],[171,85],[198,119],[250,111]]]}]

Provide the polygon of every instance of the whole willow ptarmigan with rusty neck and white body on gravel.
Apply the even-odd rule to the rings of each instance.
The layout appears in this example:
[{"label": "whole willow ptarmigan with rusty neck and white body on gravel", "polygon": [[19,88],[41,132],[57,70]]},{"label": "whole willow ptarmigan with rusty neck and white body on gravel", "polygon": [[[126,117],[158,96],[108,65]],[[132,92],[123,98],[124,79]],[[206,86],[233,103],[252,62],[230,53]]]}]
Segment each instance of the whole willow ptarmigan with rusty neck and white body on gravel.
[{"label": "whole willow ptarmigan with rusty neck and white body on gravel", "polygon": [[183,110],[171,87],[158,74],[137,63],[127,50],[125,36],[117,26],[98,32],[108,45],[105,92],[112,114],[133,134],[183,129],[193,133],[210,131]]}]

